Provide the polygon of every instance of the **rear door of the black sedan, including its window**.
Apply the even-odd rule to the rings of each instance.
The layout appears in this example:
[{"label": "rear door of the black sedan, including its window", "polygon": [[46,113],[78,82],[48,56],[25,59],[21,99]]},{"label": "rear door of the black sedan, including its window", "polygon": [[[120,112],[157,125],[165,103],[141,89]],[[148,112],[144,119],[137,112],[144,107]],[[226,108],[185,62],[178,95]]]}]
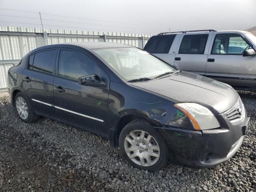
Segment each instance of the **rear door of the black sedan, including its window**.
[{"label": "rear door of the black sedan, including its window", "polygon": [[53,98],[53,79],[57,49],[47,49],[29,56],[28,68],[22,74],[22,84],[32,99],[33,109],[43,115],[56,117]]}]

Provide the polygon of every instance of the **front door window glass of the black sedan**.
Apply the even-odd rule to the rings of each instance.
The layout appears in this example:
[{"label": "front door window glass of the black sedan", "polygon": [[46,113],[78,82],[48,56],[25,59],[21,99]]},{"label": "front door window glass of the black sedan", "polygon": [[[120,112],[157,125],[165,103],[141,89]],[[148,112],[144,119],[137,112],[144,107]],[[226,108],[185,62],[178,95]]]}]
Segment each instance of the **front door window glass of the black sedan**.
[{"label": "front door window glass of the black sedan", "polygon": [[89,56],[72,50],[60,50],[59,76],[78,81],[78,78],[85,75],[100,76],[101,71],[98,64]]}]

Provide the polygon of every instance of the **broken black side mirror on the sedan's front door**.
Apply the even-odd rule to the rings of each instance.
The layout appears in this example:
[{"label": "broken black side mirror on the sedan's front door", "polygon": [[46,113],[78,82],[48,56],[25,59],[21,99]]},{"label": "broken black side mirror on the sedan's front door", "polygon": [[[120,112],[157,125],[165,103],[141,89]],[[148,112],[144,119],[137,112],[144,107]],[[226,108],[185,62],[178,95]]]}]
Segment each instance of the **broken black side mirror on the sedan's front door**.
[{"label": "broken black side mirror on the sedan's front door", "polygon": [[100,81],[100,77],[96,74],[86,75],[78,78],[80,85],[92,86],[92,87],[105,87],[106,83]]}]

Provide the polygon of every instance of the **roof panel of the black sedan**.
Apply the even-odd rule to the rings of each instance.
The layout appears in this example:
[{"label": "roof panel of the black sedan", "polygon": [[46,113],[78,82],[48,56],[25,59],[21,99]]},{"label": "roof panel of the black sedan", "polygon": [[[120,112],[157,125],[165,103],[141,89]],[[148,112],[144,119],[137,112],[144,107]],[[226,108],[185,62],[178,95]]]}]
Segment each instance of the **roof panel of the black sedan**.
[{"label": "roof panel of the black sedan", "polygon": [[130,46],[130,45],[125,45],[125,44],[107,43],[107,42],[74,42],[74,43],[67,43],[67,44],[83,46],[83,47],[86,47],[88,49],[133,47],[133,46]]}]

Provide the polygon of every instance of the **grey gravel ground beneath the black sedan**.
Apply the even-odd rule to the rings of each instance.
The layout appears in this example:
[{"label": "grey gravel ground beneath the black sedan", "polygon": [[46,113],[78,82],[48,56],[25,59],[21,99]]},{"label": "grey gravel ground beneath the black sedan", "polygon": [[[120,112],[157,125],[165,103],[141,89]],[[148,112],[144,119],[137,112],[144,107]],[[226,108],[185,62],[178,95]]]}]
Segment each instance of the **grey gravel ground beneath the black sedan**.
[{"label": "grey gravel ground beneath the black sedan", "polygon": [[[0,191],[256,191],[256,93],[239,92],[251,117],[233,158],[214,169],[170,163],[157,172],[128,165],[108,140],[40,118],[23,123],[0,96]],[[76,173],[71,182],[64,173]]]}]

